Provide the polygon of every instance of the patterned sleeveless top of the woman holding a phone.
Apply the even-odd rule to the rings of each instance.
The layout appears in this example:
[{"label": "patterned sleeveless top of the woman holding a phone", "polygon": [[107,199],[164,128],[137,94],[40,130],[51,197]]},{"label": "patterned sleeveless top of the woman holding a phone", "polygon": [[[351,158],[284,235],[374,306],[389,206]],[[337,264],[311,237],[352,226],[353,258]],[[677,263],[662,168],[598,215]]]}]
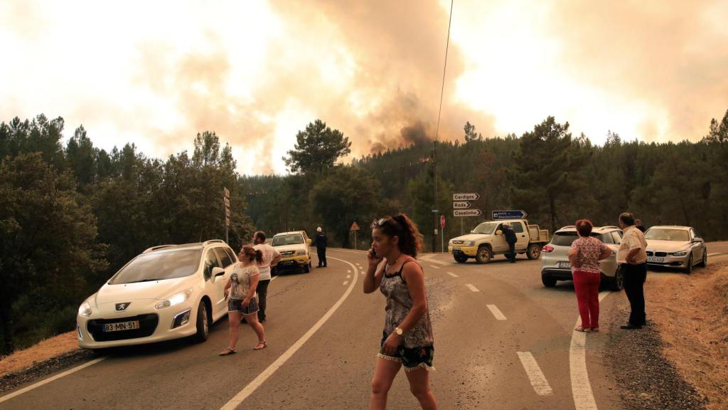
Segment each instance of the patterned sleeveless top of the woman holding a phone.
[{"label": "patterned sleeveless top of the woman holding a phone", "polygon": [[[395,331],[409,314],[412,309],[413,301],[407,287],[405,279],[402,277],[402,269],[405,264],[414,262],[414,260],[405,260],[396,274],[387,275],[387,269],[384,269],[384,277],[381,278],[379,290],[387,296],[387,318],[384,320],[384,333],[389,336]],[[413,347],[430,347],[433,344],[432,322],[430,322],[430,312],[425,312],[422,319],[414,325],[407,333],[403,334],[403,345],[408,349]]]}]

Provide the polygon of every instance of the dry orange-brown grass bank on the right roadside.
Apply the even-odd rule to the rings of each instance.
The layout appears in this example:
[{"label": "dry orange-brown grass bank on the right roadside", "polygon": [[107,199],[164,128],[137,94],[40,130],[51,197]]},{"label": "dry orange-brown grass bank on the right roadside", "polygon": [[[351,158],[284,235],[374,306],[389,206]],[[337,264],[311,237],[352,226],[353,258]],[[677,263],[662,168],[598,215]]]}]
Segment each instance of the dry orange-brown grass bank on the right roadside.
[{"label": "dry orange-brown grass bank on the right roadside", "polygon": [[708,409],[728,409],[728,264],[694,272],[651,272],[647,317],[658,325],[665,357],[708,398]]}]

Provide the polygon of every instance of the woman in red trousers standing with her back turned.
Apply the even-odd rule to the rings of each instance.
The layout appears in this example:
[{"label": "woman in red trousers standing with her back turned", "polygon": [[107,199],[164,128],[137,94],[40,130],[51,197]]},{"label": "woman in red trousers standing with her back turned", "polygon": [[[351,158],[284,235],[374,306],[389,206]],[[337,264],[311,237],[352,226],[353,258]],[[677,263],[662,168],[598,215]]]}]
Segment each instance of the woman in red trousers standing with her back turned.
[{"label": "woman in red trousers standing with her back turned", "polygon": [[571,244],[569,262],[577,293],[579,316],[582,324],[574,328],[579,332],[599,331],[599,282],[601,271],[599,261],[612,254],[599,239],[591,236],[593,225],[590,220],[577,220],[579,239]]}]

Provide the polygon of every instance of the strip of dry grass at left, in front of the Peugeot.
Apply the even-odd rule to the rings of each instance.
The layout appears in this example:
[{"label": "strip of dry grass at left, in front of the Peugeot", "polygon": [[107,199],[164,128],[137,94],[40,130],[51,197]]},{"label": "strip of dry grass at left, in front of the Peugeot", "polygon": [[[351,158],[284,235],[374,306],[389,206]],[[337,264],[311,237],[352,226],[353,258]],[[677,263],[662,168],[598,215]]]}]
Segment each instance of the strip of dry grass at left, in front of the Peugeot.
[{"label": "strip of dry grass at left, in front of the Peugeot", "polygon": [[76,338],[76,331],[62,333],[28,347],[28,349],[18,350],[12,355],[1,357],[0,377],[77,349],[79,349],[79,340]]}]

